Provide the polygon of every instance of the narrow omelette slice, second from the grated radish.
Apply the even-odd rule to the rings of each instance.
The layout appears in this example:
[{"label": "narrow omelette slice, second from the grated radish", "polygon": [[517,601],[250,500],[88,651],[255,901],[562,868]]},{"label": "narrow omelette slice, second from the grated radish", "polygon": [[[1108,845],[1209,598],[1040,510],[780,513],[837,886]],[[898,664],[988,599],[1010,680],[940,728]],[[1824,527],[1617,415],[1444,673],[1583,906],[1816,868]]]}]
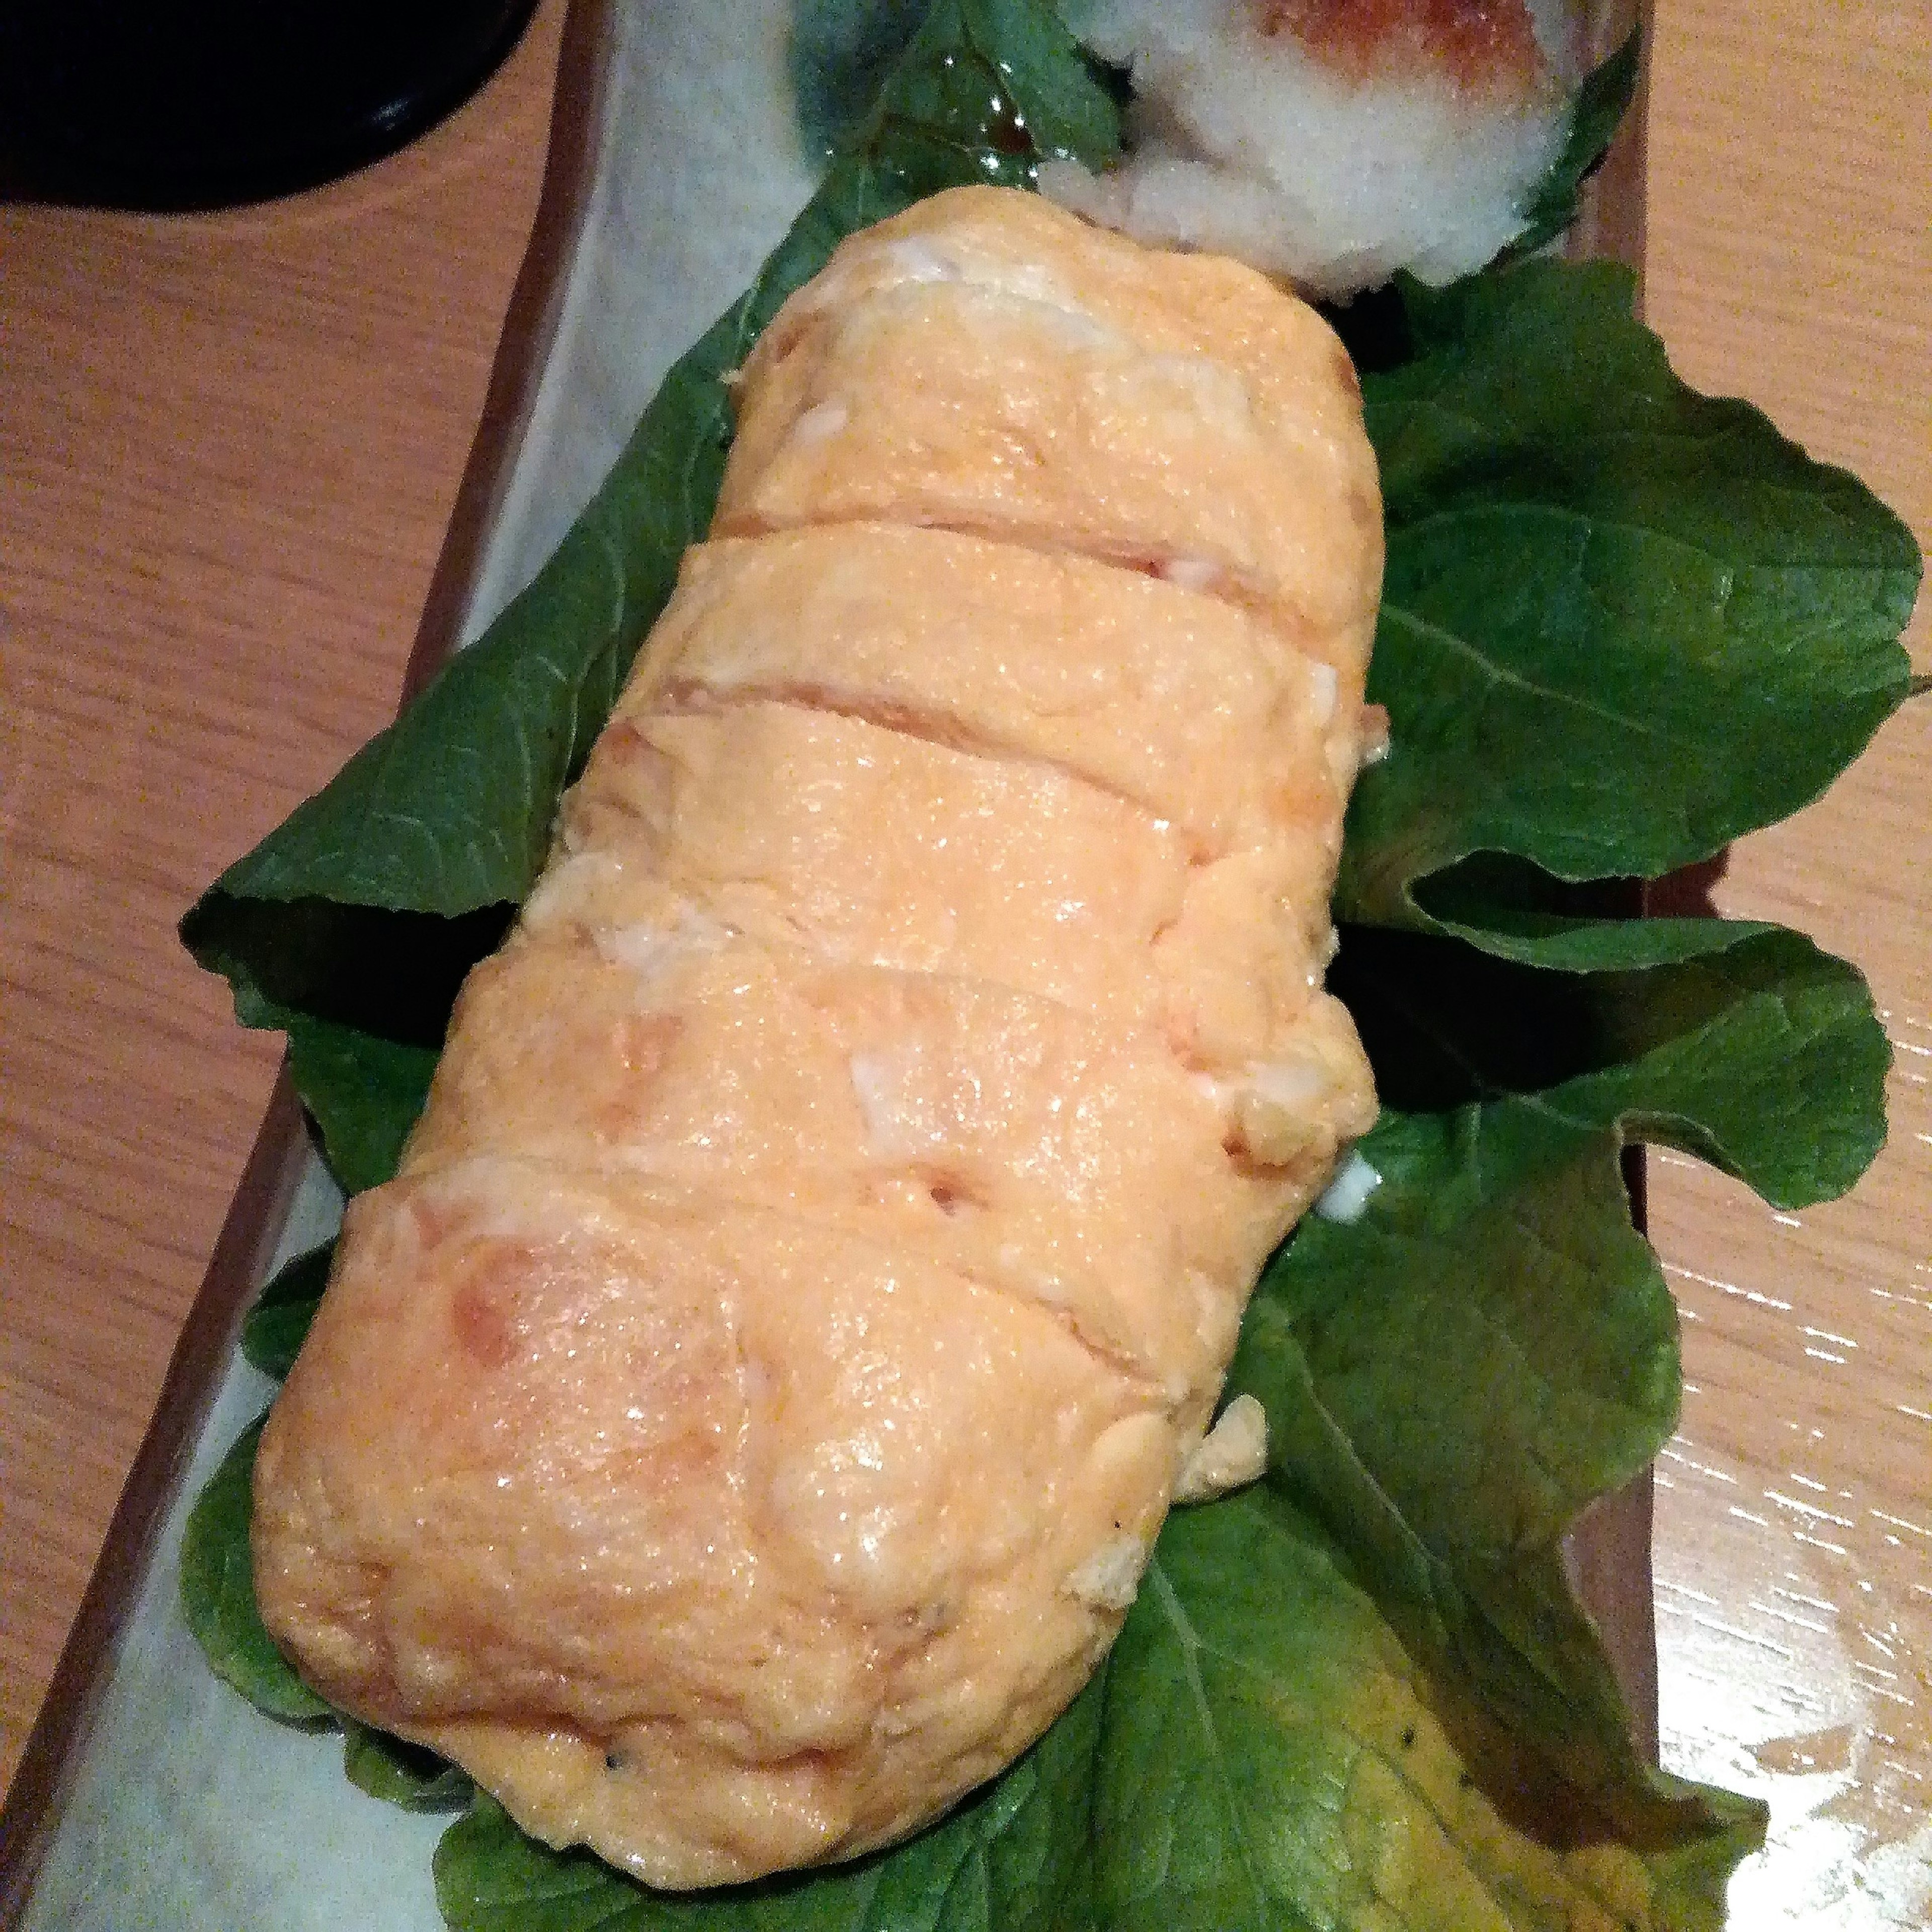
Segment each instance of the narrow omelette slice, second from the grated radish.
[{"label": "narrow omelette slice, second from the grated radish", "polygon": [[1333,867],[1362,752],[1335,668],[1235,605],[898,524],[686,553],[616,717],[759,697],[1049,765],[1180,827],[1198,858],[1287,838]]}]

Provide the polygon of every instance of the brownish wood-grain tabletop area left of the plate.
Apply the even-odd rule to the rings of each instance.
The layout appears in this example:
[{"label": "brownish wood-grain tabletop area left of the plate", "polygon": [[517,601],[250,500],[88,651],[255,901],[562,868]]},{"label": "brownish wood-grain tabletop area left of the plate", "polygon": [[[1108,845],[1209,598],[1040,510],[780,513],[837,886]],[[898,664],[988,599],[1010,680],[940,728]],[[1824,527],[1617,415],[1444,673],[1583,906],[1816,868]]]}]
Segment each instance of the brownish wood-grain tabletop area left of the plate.
[{"label": "brownish wood-grain tabletop area left of the plate", "polygon": [[261,1119],[174,923],[396,709],[562,27],[257,211],[0,211],[0,1776]]}]

